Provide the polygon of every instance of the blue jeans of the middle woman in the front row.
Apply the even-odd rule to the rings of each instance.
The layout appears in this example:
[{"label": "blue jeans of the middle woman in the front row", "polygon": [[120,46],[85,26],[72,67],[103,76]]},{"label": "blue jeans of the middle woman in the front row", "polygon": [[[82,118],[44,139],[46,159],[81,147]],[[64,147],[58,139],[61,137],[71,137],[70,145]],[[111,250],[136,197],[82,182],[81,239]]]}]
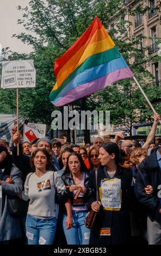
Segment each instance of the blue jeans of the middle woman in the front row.
[{"label": "blue jeans of the middle woman in the front row", "polygon": [[63,216],[63,229],[68,245],[89,245],[90,229],[85,227],[85,216],[87,211],[73,211],[73,227],[66,230],[65,220],[66,215]]}]

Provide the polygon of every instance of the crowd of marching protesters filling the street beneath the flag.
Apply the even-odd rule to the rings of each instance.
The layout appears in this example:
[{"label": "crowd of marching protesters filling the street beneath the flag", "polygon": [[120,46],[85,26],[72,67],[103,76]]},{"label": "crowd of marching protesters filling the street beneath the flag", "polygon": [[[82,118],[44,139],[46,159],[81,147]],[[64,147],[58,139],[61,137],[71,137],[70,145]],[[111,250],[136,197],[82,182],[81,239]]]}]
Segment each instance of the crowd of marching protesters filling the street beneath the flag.
[{"label": "crowd of marching protesters filling the street beneath the flag", "polygon": [[[47,137],[21,142],[14,126],[10,144],[0,139],[0,243],[161,244],[158,120],[143,144],[121,132],[84,147]],[[10,214],[10,196],[27,202],[24,216]],[[93,229],[85,226],[90,210]]]}]

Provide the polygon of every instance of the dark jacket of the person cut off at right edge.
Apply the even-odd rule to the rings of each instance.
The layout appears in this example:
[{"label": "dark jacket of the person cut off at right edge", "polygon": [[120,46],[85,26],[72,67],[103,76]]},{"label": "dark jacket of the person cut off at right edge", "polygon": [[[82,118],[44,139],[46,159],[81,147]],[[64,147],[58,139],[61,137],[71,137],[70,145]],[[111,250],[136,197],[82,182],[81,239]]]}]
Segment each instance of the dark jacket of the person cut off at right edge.
[{"label": "dark jacket of the person cut off at right edge", "polygon": [[[140,163],[135,184],[135,194],[139,202],[147,207],[151,221],[161,221],[161,214],[159,214],[161,203],[158,197],[161,189],[161,170],[157,161],[157,150],[158,148]],[[152,194],[146,194],[145,187],[147,185],[152,185]]]}]

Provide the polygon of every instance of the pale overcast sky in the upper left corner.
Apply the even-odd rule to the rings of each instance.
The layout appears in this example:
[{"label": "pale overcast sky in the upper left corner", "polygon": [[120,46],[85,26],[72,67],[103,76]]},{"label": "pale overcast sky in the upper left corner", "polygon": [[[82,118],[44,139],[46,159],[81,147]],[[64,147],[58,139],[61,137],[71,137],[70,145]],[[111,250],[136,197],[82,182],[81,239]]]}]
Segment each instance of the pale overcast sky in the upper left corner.
[{"label": "pale overcast sky in the upper left corner", "polygon": [[11,51],[29,53],[32,47],[23,44],[20,39],[12,38],[13,34],[25,32],[22,25],[17,25],[17,20],[22,17],[22,12],[17,6],[26,7],[29,0],[0,0],[0,44],[3,48],[9,46]]}]

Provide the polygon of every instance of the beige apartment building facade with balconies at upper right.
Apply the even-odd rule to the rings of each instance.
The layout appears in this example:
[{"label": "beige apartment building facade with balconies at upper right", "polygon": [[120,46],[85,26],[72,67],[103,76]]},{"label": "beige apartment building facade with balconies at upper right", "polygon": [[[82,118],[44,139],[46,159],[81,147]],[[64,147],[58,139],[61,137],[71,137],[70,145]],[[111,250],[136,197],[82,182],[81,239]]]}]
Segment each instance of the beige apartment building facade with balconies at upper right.
[{"label": "beige apartment building facade with balconies at upper right", "polygon": [[[141,4],[143,7],[149,7],[146,13],[143,15],[137,13],[135,16],[128,14],[128,20],[131,21],[131,29],[129,29],[129,36],[135,36],[139,40],[139,44],[136,45],[140,50],[140,54],[148,56],[151,52],[153,57],[159,55],[161,57],[161,44],[159,45],[159,39],[161,42],[161,26],[159,25],[160,12],[156,9],[157,0],[126,0],[125,6],[128,9],[135,9],[137,5]],[[127,17],[126,17],[127,19]],[[145,38],[143,38],[145,37]],[[144,48],[147,47],[146,50]],[[131,62],[137,60],[137,57],[133,57]],[[146,62],[146,69],[154,76],[153,86],[161,87],[161,62],[150,60]]]}]

